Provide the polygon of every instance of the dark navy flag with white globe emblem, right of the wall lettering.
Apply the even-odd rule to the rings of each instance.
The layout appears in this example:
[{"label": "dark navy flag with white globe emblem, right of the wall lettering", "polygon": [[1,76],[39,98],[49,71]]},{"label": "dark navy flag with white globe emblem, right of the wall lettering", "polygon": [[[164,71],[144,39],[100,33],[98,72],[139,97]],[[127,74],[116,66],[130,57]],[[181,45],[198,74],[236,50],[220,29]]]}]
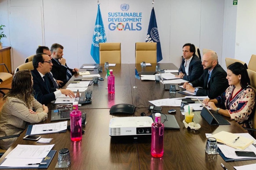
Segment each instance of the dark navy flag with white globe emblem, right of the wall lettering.
[{"label": "dark navy flag with white globe emblem, right of the wall lettering", "polygon": [[161,50],[160,38],[159,38],[159,34],[158,34],[158,29],[157,29],[156,15],[155,15],[154,7],[152,8],[152,11],[151,11],[151,16],[150,16],[150,20],[149,20],[149,29],[148,29],[148,34],[146,37],[146,42],[157,43],[156,44],[156,48],[157,48],[156,60],[157,60],[157,62],[161,61],[163,59],[163,57],[162,57],[162,50]]}]

